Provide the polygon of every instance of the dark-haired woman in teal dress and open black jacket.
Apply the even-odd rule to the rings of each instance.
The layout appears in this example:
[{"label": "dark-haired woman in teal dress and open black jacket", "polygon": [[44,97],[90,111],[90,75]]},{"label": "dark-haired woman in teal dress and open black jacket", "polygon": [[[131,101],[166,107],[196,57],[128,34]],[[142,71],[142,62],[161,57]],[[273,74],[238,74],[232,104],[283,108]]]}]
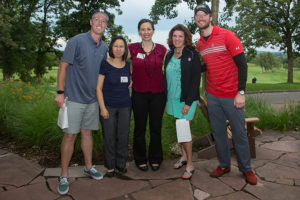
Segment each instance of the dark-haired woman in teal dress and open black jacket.
[{"label": "dark-haired woman in teal dress and open black jacket", "polygon": [[[165,59],[164,83],[167,93],[166,111],[176,119],[192,120],[199,100],[200,75],[204,71],[189,30],[178,24],[169,32],[168,45],[171,49]],[[194,172],[192,141],[181,144],[181,158],[174,169],[186,165],[182,178],[190,179]]]}]

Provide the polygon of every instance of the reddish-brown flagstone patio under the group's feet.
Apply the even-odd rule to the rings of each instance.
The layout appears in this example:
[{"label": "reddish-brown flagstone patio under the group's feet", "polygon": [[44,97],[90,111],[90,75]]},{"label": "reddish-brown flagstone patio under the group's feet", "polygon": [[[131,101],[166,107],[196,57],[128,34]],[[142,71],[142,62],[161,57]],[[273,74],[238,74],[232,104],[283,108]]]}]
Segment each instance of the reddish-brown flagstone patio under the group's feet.
[{"label": "reddish-brown flagstone patio under the group's feet", "polygon": [[[70,190],[65,196],[57,191],[59,168],[44,169],[33,161],[10,153],[0,146],[0,199],[22,200],[298,200],[300,197],[300,132],[268,130],[256,137],[256,159],[251,166],[258,184],[246,183],[237,168],[234,152],[231,172],[211,178],[218,165],[210,160],[193,158],[195,173],[182,180],[184,168],[172,168],[175,160],[166,160],[153,172],[140,171],[133,162],[128,172],[96,181],[83,175],[83,166],[70,168]],[[104,166],[96,166],[105,173]]]}]

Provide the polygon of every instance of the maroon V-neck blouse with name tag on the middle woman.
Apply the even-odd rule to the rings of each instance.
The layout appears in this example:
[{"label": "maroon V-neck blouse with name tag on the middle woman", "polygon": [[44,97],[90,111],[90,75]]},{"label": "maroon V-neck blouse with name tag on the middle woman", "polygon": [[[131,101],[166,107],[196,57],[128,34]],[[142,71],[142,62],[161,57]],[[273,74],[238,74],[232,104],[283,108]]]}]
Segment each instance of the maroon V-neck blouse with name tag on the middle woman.
[{"label": "maroon V-neck blouse with name tag on the middle woman", "polygon": [[163,92],[162,66],[167,49],[161,44],[155,44],[155,48],[147,55],[141,43],[129,44],[128,48],[132,60],[133,89],[137,92]]}]

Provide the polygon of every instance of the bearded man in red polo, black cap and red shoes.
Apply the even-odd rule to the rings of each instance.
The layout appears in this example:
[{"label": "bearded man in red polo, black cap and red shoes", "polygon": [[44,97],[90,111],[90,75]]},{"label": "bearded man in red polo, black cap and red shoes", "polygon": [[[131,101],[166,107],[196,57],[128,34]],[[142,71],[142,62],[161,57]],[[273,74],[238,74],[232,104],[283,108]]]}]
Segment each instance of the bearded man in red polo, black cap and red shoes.
[{"label": "bearded man in red polo, black cap and red shoes", "polygon": [[239,170],[248,183],[257,178],[250,166],[250,150],[245,129],[245,89],[247,62],[239,38],[231,31],[211,24],[211,10],[206,4],[194,9],[195,22],[201,31],[198,51],[206,64],[207,107],[212,133],[216,142],[220,166],[212,177],[230,172],[230,150],[227,138],[229,120]]}]

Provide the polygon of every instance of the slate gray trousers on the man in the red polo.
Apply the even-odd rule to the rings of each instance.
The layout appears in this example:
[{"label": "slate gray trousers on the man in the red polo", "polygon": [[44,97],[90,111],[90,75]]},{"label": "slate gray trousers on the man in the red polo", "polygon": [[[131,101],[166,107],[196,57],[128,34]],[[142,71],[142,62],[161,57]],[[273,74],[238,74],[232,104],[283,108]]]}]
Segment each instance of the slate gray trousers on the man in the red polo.
[{"label": "slate gray trousers on the man in the red polo", "polygon": [[226,168],[231,165],[226,123],[226,119],[228,119],[239,170],[241,172],[250,171],[251,158],[245,129],[244,108],[235,108],[233,98],[219,98],[209,93],[206,93],[206,96],[210,127],[216,142],[220,166]]}]

